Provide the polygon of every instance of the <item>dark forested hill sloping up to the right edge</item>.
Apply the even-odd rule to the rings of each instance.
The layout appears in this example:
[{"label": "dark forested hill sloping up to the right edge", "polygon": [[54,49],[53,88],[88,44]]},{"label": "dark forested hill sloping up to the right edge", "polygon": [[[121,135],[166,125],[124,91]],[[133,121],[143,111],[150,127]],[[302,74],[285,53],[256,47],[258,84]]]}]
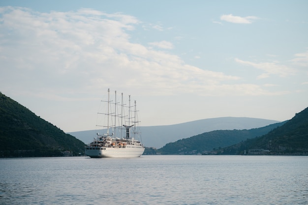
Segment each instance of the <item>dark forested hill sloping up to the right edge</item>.
[{"label": "dark forested hill sloping up to the right edge", "polygon": [[268,154],[308,154],[308,108],[268,134],[221,149],[224,154],[243,154],[248,149],[268,149]]}]

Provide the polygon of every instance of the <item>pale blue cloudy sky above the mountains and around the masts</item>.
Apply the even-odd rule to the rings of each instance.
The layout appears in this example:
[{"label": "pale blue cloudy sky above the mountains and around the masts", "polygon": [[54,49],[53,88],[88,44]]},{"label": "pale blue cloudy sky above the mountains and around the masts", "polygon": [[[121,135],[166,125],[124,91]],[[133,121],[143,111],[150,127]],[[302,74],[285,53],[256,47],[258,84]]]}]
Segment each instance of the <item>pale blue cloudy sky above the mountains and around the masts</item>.
[{"label": "pale blue cloudy sky above the mountains and around the masts", "polygon": [[0,91],[64,132],[107,89],[141,126],[308,107],[307,0],[0,0]]}]

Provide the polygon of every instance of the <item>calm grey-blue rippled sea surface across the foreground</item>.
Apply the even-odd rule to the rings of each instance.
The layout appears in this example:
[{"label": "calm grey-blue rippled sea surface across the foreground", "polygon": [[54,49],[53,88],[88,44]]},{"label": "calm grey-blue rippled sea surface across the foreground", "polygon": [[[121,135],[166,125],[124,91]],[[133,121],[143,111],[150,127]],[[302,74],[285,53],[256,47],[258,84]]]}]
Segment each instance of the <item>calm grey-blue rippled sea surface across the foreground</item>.
[{"label": "calm grey-blue rippled sea surface across the foreground", "polygon": [[0,205],[307,205],[308,156],[0,159]]}]

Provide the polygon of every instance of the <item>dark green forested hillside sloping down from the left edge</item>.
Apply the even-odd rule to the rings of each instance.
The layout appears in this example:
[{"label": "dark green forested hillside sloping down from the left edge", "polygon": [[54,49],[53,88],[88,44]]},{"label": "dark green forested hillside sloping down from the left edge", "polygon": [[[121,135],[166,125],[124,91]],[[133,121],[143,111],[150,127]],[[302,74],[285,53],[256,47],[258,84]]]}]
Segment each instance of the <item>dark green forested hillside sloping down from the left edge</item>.
[{"label": "dark green forested hillside sloping down from the left edge", "polygon": [[84,146],[0,92],[0,157],[76,156]]}]

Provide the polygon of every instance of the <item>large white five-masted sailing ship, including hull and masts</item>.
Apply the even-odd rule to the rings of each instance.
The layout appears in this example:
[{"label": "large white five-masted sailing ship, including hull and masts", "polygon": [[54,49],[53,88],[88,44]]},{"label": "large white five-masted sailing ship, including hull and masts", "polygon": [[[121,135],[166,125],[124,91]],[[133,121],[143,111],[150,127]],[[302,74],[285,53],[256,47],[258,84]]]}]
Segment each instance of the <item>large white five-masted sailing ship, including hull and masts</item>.
[{"label": "large white five-masted sailing ship, including hull and masts", "polygon": [[[102,157],[140,157],[145,147],[141,142],[141,132],[139,127],[136,101],[131,106],[130,95],[128,95],[128,105],[117,102],[117,91],[115,91],[114,101],[110,98],[108,88],[108,100],[106,103],[107,112],[98,113],[105,117],[106,125],[96,125],[104,127],[104,134],[97,133],[93,142],[85,147],[85,153],[91,158]],[[121,108],[121,111],[119,112]],[[125,111],[128,113],[125,115]]]}]

